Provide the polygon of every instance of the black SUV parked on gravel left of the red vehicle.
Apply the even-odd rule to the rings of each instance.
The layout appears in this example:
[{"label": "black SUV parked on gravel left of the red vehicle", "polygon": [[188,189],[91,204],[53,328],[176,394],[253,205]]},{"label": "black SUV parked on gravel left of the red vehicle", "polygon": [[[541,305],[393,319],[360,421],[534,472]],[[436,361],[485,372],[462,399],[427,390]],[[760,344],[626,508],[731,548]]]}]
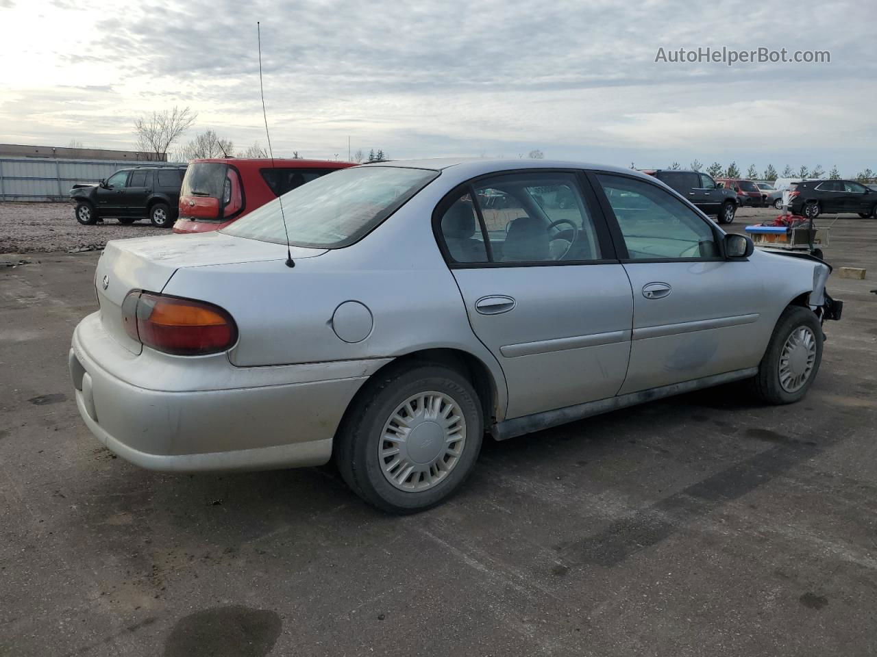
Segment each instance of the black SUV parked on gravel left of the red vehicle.
[{"label": "black SUV parked on gravel left of the red vehicle", "polygon": [[148,217],[153,226],[170,228],[185,173],[186,165],[133,166],[96,185],[74,185],[70,201],[76,206],[76,221],[91,225],[112,217],[118,223],[134,223]]}]

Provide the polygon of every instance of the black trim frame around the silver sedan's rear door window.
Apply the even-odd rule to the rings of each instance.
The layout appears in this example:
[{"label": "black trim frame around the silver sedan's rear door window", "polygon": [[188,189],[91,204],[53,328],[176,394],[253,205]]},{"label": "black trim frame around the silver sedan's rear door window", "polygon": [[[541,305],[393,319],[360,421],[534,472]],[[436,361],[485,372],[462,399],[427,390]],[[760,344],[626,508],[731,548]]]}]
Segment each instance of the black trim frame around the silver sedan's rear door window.
[{"label": "black trim frame around the silver sedan's rear door window", "polygon": [[[581,201],[584,204],[585,211],[594,224],[594,232],[597,239],[597,246],[603,256],[609,258],[601,258],[599,260],[521,260],[514,262],[495,262],[493,261],[493,249],[490,244],[487,224],[484,222],[484,215],[481,212],[481,203],[475,194],[475,185],[483,180],[501,178],[513,174],[538,174],[538,173],[567,173],[574,178]],[[448,208],[460,199],[463,194],[470,194],[475,208],[475,214],[478,216],[478,223],[481,228],[481,238],[485,240],[485,251],[487,251],[488,262],[461,263],[453,259],[450,251],[445,244],[445,236],[441,232],[441,220]],[[510,267],[550,267],[550,266],[568,266],[568,265],[617,265],[619,259],[615,250],[615,243],[611,236],[610,226],[604,216],[603,210],[594,194],[594,190],[590,186],[585,172],[581,169],[566,168],[533,168],[533,169],[506,169],[503,171],[493,171],[490,173],[482,173],[481,175],[470,178],[465,182],[453,187],[451,191],[442,196],[441,200],[436,203],[436,207],[432,210],[432,235],[435,237],[439,251],[445,259],[445,263],[449,269],[507,269]]]}]

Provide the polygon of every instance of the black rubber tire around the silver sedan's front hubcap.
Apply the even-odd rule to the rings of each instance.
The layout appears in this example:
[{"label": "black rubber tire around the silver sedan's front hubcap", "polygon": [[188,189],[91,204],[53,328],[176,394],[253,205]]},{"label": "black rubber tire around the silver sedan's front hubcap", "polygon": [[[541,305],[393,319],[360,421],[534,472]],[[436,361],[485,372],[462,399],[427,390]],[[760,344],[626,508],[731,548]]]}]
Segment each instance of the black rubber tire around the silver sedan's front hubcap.
[{"label": "black rubber tire around the silver sedan's front hubcap", "polygon": [[[781,357],[788,339],[798,329],[809,329],[815,346],[815,359],[800,388],[790,390],[781,382]],[[780,315],[767,350],[759,364],[759,373],[752,379],[755,395],[768,404],[792,404],[807,394],[822,363],[823,332],[816,314],[809,308],[789,306]]]}]

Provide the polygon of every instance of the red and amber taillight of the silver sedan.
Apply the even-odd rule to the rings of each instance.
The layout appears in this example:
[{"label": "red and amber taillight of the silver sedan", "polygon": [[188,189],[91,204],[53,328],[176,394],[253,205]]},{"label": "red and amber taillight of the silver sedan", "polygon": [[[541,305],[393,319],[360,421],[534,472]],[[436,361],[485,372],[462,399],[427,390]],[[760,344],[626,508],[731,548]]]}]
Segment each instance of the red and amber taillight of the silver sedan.
[{"label": "red and amber taillight of the silver sedan", "polygon": [[134,290],[122,304],[125,331],[132,339],[175,356],[203,356],[229,349],[238,328],[221,307]]}]

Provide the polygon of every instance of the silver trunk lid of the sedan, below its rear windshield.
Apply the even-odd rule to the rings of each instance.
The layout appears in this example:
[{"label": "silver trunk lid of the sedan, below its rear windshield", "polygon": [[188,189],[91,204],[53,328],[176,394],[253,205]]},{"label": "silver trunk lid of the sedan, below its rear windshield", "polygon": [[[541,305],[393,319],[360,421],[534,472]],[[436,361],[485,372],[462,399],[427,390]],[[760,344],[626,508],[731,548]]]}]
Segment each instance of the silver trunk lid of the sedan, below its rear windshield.
[{"label": "silver trunk lid of the sedan, below its rear windshield", "polygon": [[[325,251],[296,246],[290,249],[293,259],[313,258]],[[139,354],[143,345],[128,336],[122,315],[122,303],[132,290],[160,293],[181,267],[285,258],[286,247],[281,244],[217,232],[112,240],[103,250],[95,272],[103,328],[126,350]]]}]

